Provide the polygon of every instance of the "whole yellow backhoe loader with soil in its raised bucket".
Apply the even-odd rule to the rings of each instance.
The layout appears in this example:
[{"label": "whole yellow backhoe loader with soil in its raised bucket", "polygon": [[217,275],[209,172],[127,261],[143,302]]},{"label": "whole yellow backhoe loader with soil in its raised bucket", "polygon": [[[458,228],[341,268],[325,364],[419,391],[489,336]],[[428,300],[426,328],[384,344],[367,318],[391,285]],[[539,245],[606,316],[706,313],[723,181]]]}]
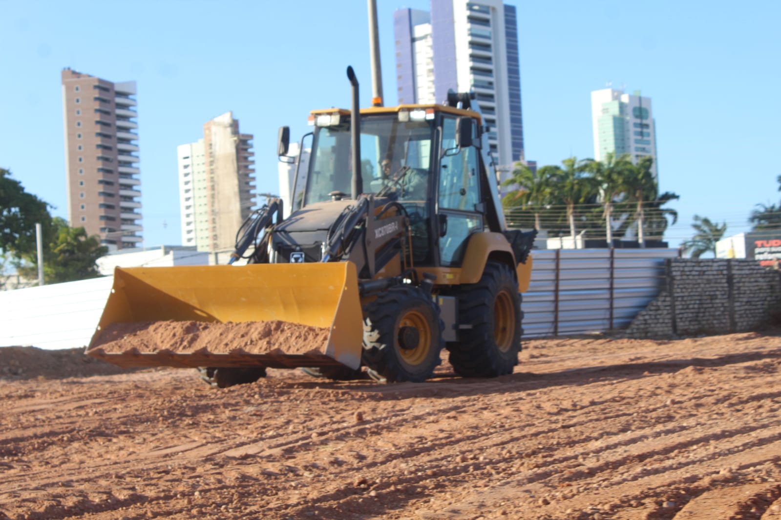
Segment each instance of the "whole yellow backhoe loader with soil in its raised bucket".
[{"label": "whole yellow backhoe loader with soil in its raised bucket", "polygon": [[[280,128],[280,160],[297,164],[290,215],[269,200],[237,233],[229,265],[117,267],[89,355],[197,367],[219,387],[257,380],[266,367],[423,381],[442,348],[463,377],[512,372],[537,232],[505,226],[473,94],[359,110],[349,67],[348,79],[350,111],[309,116],[306,171],[287,157],[290,131]],[[247,264],[233,265],[239,258]],[[187,326],[144,343],[161,323]],[[217,348],[238,334],[229,325],[253,324],[274,325],[262,341],[250,334]],[[286,324],[322,334],[277,341]],[[225,328],[209,336],[208,327]]]}]

